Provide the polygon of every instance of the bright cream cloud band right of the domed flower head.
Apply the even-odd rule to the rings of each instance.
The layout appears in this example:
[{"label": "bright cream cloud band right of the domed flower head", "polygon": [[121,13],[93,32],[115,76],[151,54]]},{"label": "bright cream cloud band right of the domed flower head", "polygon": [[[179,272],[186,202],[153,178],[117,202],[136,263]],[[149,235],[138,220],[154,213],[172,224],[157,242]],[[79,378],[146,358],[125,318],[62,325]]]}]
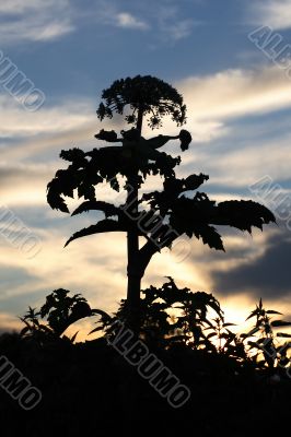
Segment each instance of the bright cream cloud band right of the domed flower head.
[{"label": "bright cream cloud band right of the domed flower head", "polygon": [[225,70],[176,83],[191,119],[224,120],[291,106],[291,81],[279,67]]}]

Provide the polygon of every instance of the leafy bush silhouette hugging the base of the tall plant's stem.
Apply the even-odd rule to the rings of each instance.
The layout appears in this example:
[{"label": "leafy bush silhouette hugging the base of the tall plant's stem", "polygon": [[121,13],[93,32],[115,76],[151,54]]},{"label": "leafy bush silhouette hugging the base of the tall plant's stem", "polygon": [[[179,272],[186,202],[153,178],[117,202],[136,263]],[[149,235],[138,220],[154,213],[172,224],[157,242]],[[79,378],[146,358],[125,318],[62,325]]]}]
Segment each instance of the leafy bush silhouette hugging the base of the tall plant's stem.
[{"label": "leafy bush silhouette hugging the base of the tall plant's stem", "polygon": [[[172,342],[182,341],[194,349],[209,347],[203,329],[212,327],[208,310],[211,308],[222,317],[219,302],[210,293],[190,292],[178,288],[171,276],[160,288],[150,286],[141,291],[140,335],[148,343],[167,347]],[[117,312],[110,318],[102,318],[96,329],[90,333],[112,327],[116,320],[126,323],[128,307],[121,300]],[[211,345],[212,347],[212,345]]]}]

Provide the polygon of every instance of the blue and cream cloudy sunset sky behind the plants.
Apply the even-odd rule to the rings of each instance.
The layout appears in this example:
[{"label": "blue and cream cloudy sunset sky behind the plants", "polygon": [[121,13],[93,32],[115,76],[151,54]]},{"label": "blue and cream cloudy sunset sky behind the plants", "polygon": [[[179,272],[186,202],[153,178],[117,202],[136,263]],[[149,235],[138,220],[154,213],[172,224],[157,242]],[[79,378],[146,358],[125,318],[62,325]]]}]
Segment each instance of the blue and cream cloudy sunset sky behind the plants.
[{"label": "blue and cream cloudy sunset sky behind the plants", "polygon": [[[211,199],[252,199],[277,217],[252,236],[221,228],[225,253],[199,240],[184,260],[165,249],[143,286],[172,275],[182,287],[213,293],[229,321],[243,322],[260,297],[291,317],[289,44],[291,0],[1,1],[0,329],[18,329],[18,316],[56,288],[108,311],[125,298],[125,235],[86,237],[65,249],[96,216],[53,211],[46,186],[66,167],[62,149],[89,151],[101,145],[101,128],[123,128],[118,119],[101,125],[96,108],[102,90],[137,74],[158,76],[184,96],[193,143],[178,175],[207,174]],[[30,81],[31,101],[8,85],[7,67]],[[177,132],[171,120],[159,131]],[[178,154],[178,145],[164,151]],[[149,180],[150,189],[155,184]],[[114,202],[116,194],[104,187],[100,196]],[[26,246],[13,238],[19,228]]]}]

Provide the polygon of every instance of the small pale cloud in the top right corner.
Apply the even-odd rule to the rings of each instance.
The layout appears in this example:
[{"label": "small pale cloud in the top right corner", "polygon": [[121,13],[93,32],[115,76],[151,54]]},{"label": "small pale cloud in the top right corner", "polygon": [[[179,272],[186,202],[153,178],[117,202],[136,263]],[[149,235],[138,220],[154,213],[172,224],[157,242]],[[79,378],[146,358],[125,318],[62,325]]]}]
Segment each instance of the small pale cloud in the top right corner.
[{"label": "small pale cloud in the top right corner", "polygon": [[249,22],[272,29],[291,27],[291,0],[256,0],[249,10]]}]

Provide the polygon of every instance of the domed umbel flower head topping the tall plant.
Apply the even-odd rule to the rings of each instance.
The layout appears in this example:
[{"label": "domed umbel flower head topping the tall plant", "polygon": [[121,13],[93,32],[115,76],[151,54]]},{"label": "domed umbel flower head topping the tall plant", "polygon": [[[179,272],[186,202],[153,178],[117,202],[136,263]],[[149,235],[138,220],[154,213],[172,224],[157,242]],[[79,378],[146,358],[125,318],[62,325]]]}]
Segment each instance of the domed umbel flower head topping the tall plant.
[{"label": "domed umbel flower head topping the tall plant", "polygon": [[151,75],[137,75],[135,78],[115,81],[110,87],[102,93],[102,102],[97,109],[101,120],[113,117],[113,113],[124,114],[129,105],[131,114],[126,116],[128,123],[137,123],[138,113],[148,117],[149,126],[154,129],[162,125],[166,115],[182,126],[186,121],[186,105],[178,92],[164,81]]}]

